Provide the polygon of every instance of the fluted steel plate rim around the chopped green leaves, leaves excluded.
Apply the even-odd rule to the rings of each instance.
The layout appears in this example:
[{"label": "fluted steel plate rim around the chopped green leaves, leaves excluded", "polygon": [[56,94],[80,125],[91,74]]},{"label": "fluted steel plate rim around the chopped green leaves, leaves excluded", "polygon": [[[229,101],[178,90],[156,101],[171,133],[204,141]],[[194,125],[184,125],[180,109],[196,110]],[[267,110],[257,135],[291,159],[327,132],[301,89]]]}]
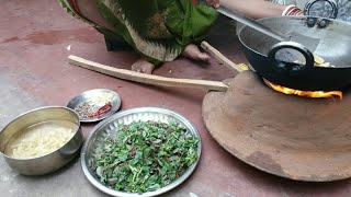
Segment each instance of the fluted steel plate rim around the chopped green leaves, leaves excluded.
[{"label": "fluted steel plate rim around the chopped green leaves, leaves excluded", "polygon": [[[169,121],[176,121],[186,128],[186,135],[193,135],[200,139],[199,141],[199,147],[197,147],[197,160],[196,162],[190,166],[185,173],[180,176],[178,179],[173,181],[169,185],[157,189],[155,192],[148,192],[144,193],[141,195],[139,194],[132,194],[132,193],[125,193],[125,192],[118,192],[114,190],[112,188],[109,188],[107,186],[103,185],[100,183],[98,176],[89,167],[88,161],[94,155],[95,149],[103,143],[103,140],[110,136],[110,135],[115,135],[116,128],[118,127],[120,124],[131,124],[132,121],[148,121],[148,120],[154,120],[154,121],[162,121],[162,123],[169,123]],[[110,118],[101,121],[90,132],[88,136],[86,143],[81,150],[81,166],[83,170],[83,173],[86,177],[89,179],[89,182],[102,190],[103,193],[106,193],[112,196],[124,196],[124,197],[134,197],[134,196],[156,196],[163,194],[181,183],[183,183],[195,170],[199,159],[201,155],[201,138],[197,132],[197,129],[195,126],[188,120],[185,117],[181,116],[180,114],[166,109],[166,108],[158,108],[158,107],[138,107],[138,108],[132,108],[127,111],[120,112]]]}]

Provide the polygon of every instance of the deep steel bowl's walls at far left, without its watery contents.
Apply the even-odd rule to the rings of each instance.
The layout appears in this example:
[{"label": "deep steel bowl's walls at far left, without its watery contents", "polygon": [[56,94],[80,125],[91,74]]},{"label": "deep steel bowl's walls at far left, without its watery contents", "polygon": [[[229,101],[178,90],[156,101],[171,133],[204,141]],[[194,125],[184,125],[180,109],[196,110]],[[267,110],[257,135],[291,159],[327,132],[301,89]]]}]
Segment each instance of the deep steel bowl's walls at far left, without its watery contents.
[{"label": "deep steel bowl's walls at far left, without its watery contents", "polygon": [[[5,154],[10,140],[29,127],[49,120],[67,120],[78,126],[72,138],[61,148],[43,157],[16,159]],[[23,175],[43,175],[52,173],[77,157],[83,143],[78,115],[68,107],[47,106],[26,112],[10,121],[0,132],[0,153],[9,166]]]}]

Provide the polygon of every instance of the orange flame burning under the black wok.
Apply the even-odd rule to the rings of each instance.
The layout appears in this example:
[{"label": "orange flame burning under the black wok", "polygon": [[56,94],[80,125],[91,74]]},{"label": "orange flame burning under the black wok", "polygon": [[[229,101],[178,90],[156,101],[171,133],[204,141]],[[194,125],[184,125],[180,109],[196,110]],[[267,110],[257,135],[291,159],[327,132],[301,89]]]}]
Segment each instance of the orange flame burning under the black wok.
[{"label": "orange flame burning under the black wok", "polygon": [[342,92],[341,91],[330,91],[330,92],[324,92],[324,91],[299,91],[299,90],[294,90],[290,88],[285,88],[282,85],[274,84],[265,79],[264,83],[268,84],[270,88],[278,92],[282,92],[284,94],[295,94],[298,96],[304,96],[304,97],[333,97],[338,96],[340,100],[342,100]]}]

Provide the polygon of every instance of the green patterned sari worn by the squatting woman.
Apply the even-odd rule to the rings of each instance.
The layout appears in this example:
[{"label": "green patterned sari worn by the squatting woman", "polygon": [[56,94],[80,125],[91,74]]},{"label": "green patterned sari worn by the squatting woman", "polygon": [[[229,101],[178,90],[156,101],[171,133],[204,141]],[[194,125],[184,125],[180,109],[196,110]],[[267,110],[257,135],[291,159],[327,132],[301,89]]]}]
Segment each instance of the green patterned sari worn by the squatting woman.
[{"label": "green patterned sari worn by the squatting woman", "polygon": [[158,65],[176,59],[190,43],[204,38],[217,12],[191,0],[94,0],[113,25],[106,30],[84,20],[75,0],[59,0],[72,15],[93,25],[106,37],[123,37],[139,55]]}]

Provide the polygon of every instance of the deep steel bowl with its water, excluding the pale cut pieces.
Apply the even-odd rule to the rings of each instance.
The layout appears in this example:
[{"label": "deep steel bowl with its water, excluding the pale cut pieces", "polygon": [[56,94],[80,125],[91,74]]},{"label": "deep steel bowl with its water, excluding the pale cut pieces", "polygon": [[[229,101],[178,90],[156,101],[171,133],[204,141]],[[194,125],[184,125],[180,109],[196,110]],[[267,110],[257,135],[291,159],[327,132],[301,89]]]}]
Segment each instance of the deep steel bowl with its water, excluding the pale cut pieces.
[{"label": "deep steel bowl with its water, excluding the pale cut pieces", "polygon": [[[20,140],[21,138],[27,141],[30,139],[33,140],[33,136],[26,136],[27,138],[24,138],[24,136],[33,131],[34,128],[37,130],[41,129],[39,131],[49,130],[44,130],[43,126],[53,129],[68,128],[70,134],[66,138],[66,141],[59,143],[61,146],[55,149],[52,148],[47,153],[29,158],[18,158],[16,155],[12,155],[13,153],[11,152],[14,151],[12,148],[20,147],[20,143],[15,144],[16,140]],[[55,135],[60,134],[61,132]],[[48,136],[44,137],[49,139],[49,141],[58,140],[57,138],[49,138]],[[41,140],[42,141],[37,143],[35,143],[34,140],[34,142],[30,144],[36,144],[39,147],[45,142],[45,139]],[[73,158],[79,155],[82,143],[83,137],[78,115],[72,109],[64,106],[46,106],[26,112],[10,121],[0,132],[0,153],[4,157],[11,169],[23,175],[43,175],[63,167]],[[22,149],[24,151],[29,151],[24,152],[24,154],[32,153],[33,150],[36,150],[36,147],[33,149],[29,147],[30,146]],[[46,148],[47,147],[41,147],[41,149]]]}]

